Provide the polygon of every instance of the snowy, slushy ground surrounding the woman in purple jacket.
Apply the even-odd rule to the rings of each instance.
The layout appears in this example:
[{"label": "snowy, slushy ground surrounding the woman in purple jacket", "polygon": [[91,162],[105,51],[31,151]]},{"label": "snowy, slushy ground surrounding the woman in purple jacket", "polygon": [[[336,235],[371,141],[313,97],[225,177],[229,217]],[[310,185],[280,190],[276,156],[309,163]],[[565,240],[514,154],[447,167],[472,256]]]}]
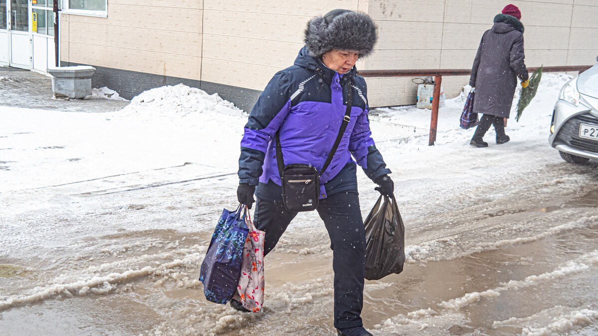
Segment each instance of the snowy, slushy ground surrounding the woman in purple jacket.
[{"label": "snowy, slushy ground surrounding the woman in purple jacket", "polygon": [[[511,142],[470,148],[462,97],[370,121],[407,230],[407,264],[365,286],[374,335],[598,332],[598,167],[547,143],[566,77],[545,75]],[[31,106],[30,106],[31,107]],[[262,314],[209,303],[199,265],[236,206],[247,115],[177,85],[121,111],[0,106],[3,334],[332,335],[331,252],[301,213],[266,258]],[[358,173],[364,217],[374,185]]]}]

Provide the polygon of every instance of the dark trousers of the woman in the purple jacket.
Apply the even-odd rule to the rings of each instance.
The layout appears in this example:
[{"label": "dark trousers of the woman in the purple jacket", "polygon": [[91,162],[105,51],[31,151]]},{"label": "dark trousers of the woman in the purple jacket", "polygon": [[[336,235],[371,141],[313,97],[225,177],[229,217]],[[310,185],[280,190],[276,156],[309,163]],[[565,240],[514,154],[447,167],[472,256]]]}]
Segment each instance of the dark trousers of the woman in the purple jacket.
[{"label": "dark trousers of the woman in the purple jacket", "polygon": [[[334,270],[334,326],[362,326],[365,273],[365,229],[357,191],[332,194],[320,200],[318,214],[324,220],[332,248]],[[266,231],[264,255],[272,251],[297,212],[282,201],[257,199],[254,224]]]}]

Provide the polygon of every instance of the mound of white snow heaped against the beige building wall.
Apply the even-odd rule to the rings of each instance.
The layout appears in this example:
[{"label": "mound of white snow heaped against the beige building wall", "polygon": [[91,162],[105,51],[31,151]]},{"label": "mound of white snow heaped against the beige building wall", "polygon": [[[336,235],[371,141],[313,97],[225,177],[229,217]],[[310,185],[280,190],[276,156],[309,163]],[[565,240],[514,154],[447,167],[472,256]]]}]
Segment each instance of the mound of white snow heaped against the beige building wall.
[{"label": "mound of white snow heaped against the beige building wall", "polygon": [[150,113],[152,115],[185,116],[203,112],[240,115],[244,112],[233,103],[222,99],[218,93],[208,94],[199,88],[184,84],[166,85],[144,91],[133,97],[123,112],[126,114]]}]

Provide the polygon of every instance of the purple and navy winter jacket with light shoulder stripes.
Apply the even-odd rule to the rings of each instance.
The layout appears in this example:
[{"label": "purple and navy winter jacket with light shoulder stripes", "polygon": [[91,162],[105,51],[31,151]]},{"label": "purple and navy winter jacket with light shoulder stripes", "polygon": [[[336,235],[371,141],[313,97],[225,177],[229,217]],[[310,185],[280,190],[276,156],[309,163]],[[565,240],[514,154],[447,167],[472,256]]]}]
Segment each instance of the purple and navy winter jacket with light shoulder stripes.
[{"label": "purple and navy winter jacket with light shoulder stripes", "polygon": [[[341,87],[342,77],[346,76],[350,81]],[[241,140],[240,183],[258,185],[271,180],[281,184],[274,140],[277,130],[285,166],[303,163],[321,170],[346,112],[349,84],[353,90],[351,118],[320,178],[321,195],[326,197],[325,184],[353,161],[351,155],[370,179],[389,174],[371,138],[364,78],[356,75],[355,67],[339,75],[302,48],[295,65],[277,72],[270,80],[249,115]]]}]

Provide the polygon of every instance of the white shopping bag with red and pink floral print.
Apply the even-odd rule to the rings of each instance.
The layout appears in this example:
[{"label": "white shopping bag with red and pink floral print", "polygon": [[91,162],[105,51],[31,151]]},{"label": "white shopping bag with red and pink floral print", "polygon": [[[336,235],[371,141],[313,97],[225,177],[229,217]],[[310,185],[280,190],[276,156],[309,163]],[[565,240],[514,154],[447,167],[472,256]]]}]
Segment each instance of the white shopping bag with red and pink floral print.
[{"label": "white shopping bag with red and pink floral print", "polygon": [[264,304],[264,236],[266,233],[255,228],[249,215],[245,217],[249,234],[243,247],[241,277],[234,299],[246,309],[257,313]]}]

